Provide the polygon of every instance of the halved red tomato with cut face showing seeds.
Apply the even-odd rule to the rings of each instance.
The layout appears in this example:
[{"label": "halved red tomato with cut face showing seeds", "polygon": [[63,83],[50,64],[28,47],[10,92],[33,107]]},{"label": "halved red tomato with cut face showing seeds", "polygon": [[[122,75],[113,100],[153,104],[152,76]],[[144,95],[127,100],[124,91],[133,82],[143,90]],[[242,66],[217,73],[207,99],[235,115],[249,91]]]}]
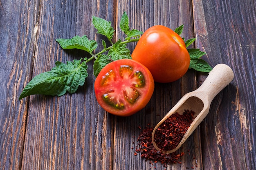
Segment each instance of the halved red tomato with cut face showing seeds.
[{"label": "halved red tomato with cut face showing seeds", "polygon": [[141,63],[121,59],[107,64],[94,82],[94,92],[100,106],[117,116],[130,116],[148,104],[154,79]]}]

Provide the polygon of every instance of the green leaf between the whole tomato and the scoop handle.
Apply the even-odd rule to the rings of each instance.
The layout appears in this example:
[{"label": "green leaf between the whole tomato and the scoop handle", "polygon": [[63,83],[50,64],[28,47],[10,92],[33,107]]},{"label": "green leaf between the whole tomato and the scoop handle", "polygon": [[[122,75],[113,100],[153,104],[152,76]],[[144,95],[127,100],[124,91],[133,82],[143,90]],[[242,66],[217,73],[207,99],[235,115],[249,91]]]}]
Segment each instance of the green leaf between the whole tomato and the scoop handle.
[{"label": "green leaf between the whole tomato and the scoop handle", "polygon": [[190,65],[189,68],[193,68],[196,71],[201,72],[210,72],[212,67],[204,60],[200,59],[205,52],[200,51],[199,49],[188,49],[190,55]]}]

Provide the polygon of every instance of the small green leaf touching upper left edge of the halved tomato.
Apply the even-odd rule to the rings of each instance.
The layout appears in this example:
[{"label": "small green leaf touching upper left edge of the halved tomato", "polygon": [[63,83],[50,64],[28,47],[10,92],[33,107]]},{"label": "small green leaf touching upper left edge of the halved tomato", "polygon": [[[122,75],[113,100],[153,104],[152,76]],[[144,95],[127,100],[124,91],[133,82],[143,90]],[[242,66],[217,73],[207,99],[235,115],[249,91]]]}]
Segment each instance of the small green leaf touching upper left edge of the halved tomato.
[{"label": "small green leaf touching upper left edge of the halved tomato", "polygon": [[101,69],[105,67],[107,64],[109,64],[110,62],[112,62],[112,60],[110,60],[110,57],[108,57],[108,55],[105,55],[105,54],[99,55],[97,57],[97,60],[95,60],[93,64],[93,75],[97,77]]}]

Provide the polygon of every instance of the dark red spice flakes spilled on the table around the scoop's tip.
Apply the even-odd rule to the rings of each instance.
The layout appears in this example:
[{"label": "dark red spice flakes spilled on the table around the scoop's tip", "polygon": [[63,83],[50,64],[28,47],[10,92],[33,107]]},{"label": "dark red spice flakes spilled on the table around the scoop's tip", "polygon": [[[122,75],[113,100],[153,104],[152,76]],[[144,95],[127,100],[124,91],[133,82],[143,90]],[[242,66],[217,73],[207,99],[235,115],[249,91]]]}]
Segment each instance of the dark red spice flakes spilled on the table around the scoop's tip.
[{"label": "dark red spice flakes spilled on the table around the scoop's tip", "polygon": [[[165,154],[162,151],[157,151],[152,144],[152,132],[153,128],[147,127],[138,137],[139,144],[136,148],[136,152],[141,154],[141,158],[145,158],[146,161],[153,160],[155,163],[160,161],[164,166],[171,163],[181,163],[180,158],[184,155],[184,152],[181,152],[180,154],[177,152]],[[137,153],[135,153],[135,155],[137,155]]]}]

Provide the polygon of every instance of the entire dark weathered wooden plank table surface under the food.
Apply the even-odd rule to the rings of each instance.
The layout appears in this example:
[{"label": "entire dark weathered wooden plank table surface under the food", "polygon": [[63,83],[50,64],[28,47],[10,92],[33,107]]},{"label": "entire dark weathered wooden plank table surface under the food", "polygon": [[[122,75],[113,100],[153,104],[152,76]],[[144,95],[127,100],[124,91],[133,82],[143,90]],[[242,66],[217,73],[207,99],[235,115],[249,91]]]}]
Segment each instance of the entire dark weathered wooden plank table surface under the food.
[{"label": "entire dark weathered wooden plank table surface under the food", "polygon": [[[234,71],[233,81],[180,149],[181,164],[150,163],[132,147],[141,130],[155,126],[206,73],[189,70],[175,82],[156,83],[146,108],[130,117],[99,106],[92,62],[75,94],[18,99],[31,78],[50,71],[56,61],[88,55],[61,49],[57,38],[87,35],[101,42],[104,37],[92,25],[97,16],[112,22],[115,40],[124,39],[119,29],[124,11],[130,27],[141,31],[184,24],[182,36],[197,38],[193,47],[207,53],[204,60]],[[255,170],[255,44],[255,0],[0,0],[0,170]]]}]

